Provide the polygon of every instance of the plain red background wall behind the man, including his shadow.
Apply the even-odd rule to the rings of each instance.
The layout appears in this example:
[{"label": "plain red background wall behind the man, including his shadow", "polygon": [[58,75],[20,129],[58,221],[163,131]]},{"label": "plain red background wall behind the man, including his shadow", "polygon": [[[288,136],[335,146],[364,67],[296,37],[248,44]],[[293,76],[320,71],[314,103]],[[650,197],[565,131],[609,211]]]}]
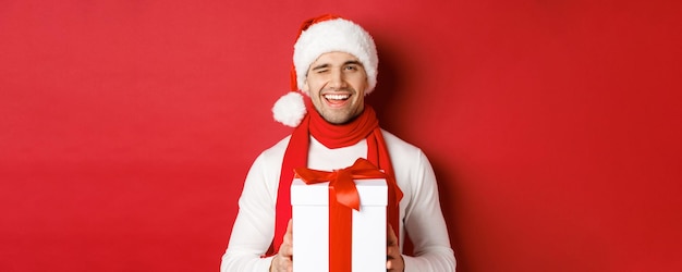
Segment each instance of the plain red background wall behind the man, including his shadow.
[{"label": "plain red background wall behind the man, including his shadow", "polygon": [[[645,3],[646,2],[646,3]],[[217,271],[304,18],[374,34],[459,271],[682,270],[679,1],[0,2],[0,270]]]}]

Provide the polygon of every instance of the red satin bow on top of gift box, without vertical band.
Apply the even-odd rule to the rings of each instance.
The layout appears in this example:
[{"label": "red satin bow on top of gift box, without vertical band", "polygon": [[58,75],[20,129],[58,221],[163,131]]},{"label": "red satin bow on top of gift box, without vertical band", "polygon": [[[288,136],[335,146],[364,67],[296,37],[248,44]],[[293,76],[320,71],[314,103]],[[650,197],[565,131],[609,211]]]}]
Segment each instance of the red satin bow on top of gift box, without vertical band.
[{"label": "red satin bow on top of gift box, without vertical band", "polygon": [[[358,158],[353,165],[334,170],[333,172],[312,170],[306,168],[294,169],[294,173],[305,184],[316,184],[329,182],[329,187],[333,188],[337,201],[348,208],[360,211],[360,195],[353,180],[387,178],[387,174],[381,172],[368,160]],[[400,190],[399,190],[400,191]]]}]

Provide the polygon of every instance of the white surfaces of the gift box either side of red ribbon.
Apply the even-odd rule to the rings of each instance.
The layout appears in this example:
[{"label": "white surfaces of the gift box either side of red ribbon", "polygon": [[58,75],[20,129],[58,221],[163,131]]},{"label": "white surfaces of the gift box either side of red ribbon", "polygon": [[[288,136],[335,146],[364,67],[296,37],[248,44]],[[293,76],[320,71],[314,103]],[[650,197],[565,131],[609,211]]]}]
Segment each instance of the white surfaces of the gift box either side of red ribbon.
[{"label": "white surfaces of the gift box either side of red ribbon", "polygon": [[[329,271],[329,183],[291,186],[293,271]],[[386,271],[386,181],[356,180],[360,211],[353,210],[352,271]]]}]

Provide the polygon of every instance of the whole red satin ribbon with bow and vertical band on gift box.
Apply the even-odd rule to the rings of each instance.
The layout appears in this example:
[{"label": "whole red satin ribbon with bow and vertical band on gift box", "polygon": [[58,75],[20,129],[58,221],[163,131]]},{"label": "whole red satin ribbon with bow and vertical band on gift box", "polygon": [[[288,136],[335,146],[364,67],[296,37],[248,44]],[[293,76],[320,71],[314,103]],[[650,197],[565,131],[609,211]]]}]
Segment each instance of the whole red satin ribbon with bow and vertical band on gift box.
[{"label": "whole red satin ribbon with bow and vertical band on gift box", "polygon": [[[394,186],[395,194],[402,191],[388,175],[366,159],[360,158],[353,165],[332,172],[294,169],[305,184],[329,182],[329,271],[350,272],[352,264],[353,209],[360,211],[360,195],[354,180],[386,178]],[[389,190],[391,191],[391,190]],[[398,198],[400,199],[400,198]]]}]

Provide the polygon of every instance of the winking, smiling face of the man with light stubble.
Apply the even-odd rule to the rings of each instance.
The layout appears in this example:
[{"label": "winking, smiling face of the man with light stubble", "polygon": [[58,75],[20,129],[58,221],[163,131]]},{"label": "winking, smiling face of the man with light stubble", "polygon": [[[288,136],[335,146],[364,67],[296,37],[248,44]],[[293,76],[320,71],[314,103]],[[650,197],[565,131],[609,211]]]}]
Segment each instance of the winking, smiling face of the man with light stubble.
[{"label": "winking, smiling face of the man with light stubble", "polygon": [[367,73],[357,58],[329,52],[310,64],[303,90],[327,122],[343,124],[363,111],[367,86]]}]

